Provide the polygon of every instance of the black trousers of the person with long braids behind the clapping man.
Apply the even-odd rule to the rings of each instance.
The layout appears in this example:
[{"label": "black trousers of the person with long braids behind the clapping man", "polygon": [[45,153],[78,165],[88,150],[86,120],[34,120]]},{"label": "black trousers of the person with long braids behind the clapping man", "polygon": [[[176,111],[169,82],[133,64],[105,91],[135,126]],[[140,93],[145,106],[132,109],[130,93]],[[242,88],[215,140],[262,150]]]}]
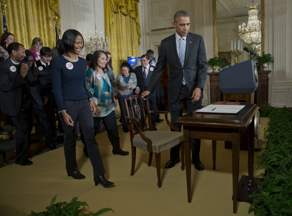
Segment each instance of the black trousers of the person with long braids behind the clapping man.
[{"label": "black trousers of the person with long braids behind the clapping man", "polygon": [[[46,110],[44,106],[39,106],[34,100],[32,102],[34,104],[32,111],[34,111],[34,114],[37,115],[39,121],[41,122],[42,130],[46,138],[45,144],[51,145],[53,144],[53,141],[54,141],[54,135],[51,129],[50,120],[46,113]],[[30,132],[31,130],[32,130],[32,127],[30,128]]]}]

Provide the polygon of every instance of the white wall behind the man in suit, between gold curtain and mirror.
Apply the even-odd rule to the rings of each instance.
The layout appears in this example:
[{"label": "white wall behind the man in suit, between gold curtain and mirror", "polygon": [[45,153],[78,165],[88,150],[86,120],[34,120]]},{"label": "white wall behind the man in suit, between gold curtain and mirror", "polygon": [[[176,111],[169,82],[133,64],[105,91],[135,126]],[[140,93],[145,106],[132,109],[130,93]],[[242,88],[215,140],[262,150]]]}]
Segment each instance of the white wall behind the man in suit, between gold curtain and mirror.
[{"label": "white wall behind the man in suit, between gold curtain and mirror", "polygon": [[[141,25],[140,56],[148,49],[152,49],[156,59],[158,58],[157,47],[160,46],[161,40],[175,32],[175,29],[171,28],[174,14],[179,10],[185,10],[191,18],[190,32],[203,36],[207,59],[214,57],[212,0],[140,0],[138,5]],[[162,28],[167,29],[151,32]],[[207,75],[202,105],[210,103],[209,86]]]}]

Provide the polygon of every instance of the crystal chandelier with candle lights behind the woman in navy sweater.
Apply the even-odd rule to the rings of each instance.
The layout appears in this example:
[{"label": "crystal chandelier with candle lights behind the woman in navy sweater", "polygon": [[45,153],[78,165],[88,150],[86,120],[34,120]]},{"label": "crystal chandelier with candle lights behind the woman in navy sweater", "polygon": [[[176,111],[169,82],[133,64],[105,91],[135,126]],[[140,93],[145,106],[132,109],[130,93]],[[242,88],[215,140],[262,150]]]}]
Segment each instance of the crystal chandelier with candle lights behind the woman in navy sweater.
[{"label": "crystal chandelier with candle lights behind the woman in navy sweater", "polygon": [[[91,33],[91,32],[90,32]],[[102,33],[102,32],[101,32]],[[97,34],[97,31],[95,30],[95,34],[93,37],[89,36],[89,42],[87,42],[87,39],[85,38],[85,49],[87,53],[94,53],[96,50],[102,50],[102,51],[108,51],[108,38],[106,37],[106,41],[103,42],[104,37],[101,37],[99,39],[99,34]]]}]

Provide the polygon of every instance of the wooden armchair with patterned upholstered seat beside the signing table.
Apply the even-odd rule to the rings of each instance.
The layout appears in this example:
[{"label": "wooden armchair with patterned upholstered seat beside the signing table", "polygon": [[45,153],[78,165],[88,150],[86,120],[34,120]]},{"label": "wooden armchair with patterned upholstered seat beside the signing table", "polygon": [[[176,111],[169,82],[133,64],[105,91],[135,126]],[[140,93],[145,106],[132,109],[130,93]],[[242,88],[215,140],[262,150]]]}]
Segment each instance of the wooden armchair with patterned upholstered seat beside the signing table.
[{"label": "wooden armchair with patterned upholstered seat beside the signing table", "polygon": [[[138,99],[140,99],[141,104],[139,104]],[[128,109],[127,101],[130,103],[131,110]],[[133,103],[133,101],[135,101]],[[125,119],[128,122],[129,128],[132,128],[131,122],[134,122],[135,131],[130,129],[131,136],[131,149],[132,149],[132,169],[131,175],[134,175],[135,163],[136,163],[136,147],[141,148],[149,152],[149,161],[148,166],[151,166],[152,155],[155,153],[155,161],[156,161],[156,169],[157,169],[157,178],[158,178],[158,187],[162,186],[160,180],[160,152],[172,148],[180,144],[180,152],[181,152],[181,161],[182,161],[182,170],[184,170],[184,134],[182,132],[178,132],[179,129],[170,124],[167,118],[167,111],[150,111],[148,98],[146,97],[146,110],[147,114],[144,113],[144,106],[142,102],[141,94],[132,95],[128,98],[124,98],[124,105],[127,111],[127,117]],[[140,107],[140,105],[142,107]],[[142,108],[142,110],[141,110]],[[143,115],[141,116],[141,111]],[[132,113],[133,118],[130,118],[130,112]],[[167,125],[172,128],[174,131],[153,131],[152,122],[151,122],[151,113],[162,113],[165,114],[165,121]],[[134,118],[137,117],[137,118]],[[146,116],[148,117],[148,125],[146,122]],[[141,129],[141,117],[144,118],[145,129]],[[148,131],[148,132],[146,132]],[[145,133],[143,133],[145,132]],[[136,136],[135,136],[136,135]]]}]

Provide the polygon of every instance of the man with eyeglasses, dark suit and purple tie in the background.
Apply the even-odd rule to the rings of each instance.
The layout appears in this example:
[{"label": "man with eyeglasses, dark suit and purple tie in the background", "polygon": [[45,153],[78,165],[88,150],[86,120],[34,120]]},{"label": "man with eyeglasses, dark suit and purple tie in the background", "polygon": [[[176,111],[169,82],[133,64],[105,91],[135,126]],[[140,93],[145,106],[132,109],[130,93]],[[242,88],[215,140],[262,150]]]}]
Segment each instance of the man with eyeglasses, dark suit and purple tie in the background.
[{"label": "man with eyeglasses, dark suit and purple tie in the background", "polygon": [[[151,75],[152,75],[152,71],[154,70],[155,66],[150,65],[150,57],[147,55],[143,55],[141,56],[140,59],[140,66],[138,66],[135,70],[135,74],[137,77],[137,87],[135,90],[136,94],[142,94],[144,91],[146,91],[149,81],[151,79]],[[141,101],[139,101],[140,103]],[[148,95],[148,102],[149,102],[149,108],[150,110],[158,110],[156,107],[156,92],[150,93]],[[146,106],[145,106],[145,101],[143,101],[143,106],[144,106],[144,111],[146,113]],[[140,104],[140,106],[142,106]],[[151,122],[152,122],[152,127],[153,130],[156,131],[157,128],[156,126],[156,118],[157,115],[156,113],[151,113]],[[145,127],[145,122],[144,122],[144,118],[141,118],[141,127],[144,128]]]}]

